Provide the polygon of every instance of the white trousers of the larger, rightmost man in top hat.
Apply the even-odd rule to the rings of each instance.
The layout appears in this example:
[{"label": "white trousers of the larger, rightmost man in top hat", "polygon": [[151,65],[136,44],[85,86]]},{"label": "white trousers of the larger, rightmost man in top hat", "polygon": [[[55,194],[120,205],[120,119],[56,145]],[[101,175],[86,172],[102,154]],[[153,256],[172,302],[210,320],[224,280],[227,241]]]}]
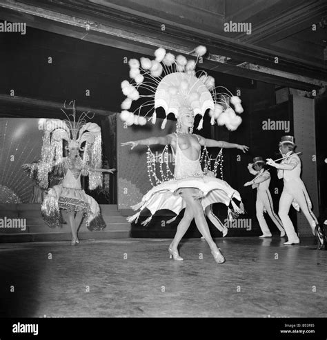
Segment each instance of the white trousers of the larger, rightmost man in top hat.
[{"label": "white trousers of the larger, rightmost man in top hat", "polygon": [[290,205],[294,199],[297,201],[299,208],[310,223],[313,234],[315,234],[315,226],[318,224],[317,217],[315,217],[315,214],[313,214],[313,211],[311,210],[310,198],[303,181],[301,181],[301,179],[284,181],[284,189],[283,192],[281,192],[281,198],[279,199],[278,214],[288,236],[288,241],[297,241],[299,239],[293,223],[288,216]]}]

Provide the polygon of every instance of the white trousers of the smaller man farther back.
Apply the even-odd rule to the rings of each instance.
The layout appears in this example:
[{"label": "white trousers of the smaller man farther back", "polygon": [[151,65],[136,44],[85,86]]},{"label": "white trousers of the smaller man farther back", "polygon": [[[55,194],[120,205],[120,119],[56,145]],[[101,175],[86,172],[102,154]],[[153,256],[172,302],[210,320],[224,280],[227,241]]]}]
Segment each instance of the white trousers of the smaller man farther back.
[{"label": "white trousers of the smaller man farther back", "polygon": [[273,199],[271,198],[269,190],[258,190],[257,191],[257,201],[255,203],[255,209],[257,211],[257,219],[259,221],[259,226],[261,231],[265,235],[271,234],[266,219],[264,218],[264,210],[268,212],[270,219],[275,223],[275,226],[280,232],[284,231],[283,224],[279,219],[278,215],[274,211]]}]

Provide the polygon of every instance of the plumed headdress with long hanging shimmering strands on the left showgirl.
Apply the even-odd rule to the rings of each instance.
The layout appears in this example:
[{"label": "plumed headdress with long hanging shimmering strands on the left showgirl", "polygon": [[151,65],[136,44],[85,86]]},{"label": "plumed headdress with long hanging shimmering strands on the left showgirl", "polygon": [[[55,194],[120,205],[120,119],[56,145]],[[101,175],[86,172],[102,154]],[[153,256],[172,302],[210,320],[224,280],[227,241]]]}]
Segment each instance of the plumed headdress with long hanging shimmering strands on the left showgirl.
[{"label": "plumed headdress with long hanging shimmering strands on the left showgirl", "polygon": [[[41,148],[41,161],[38,164],[38,179],[42,188],[48,188],[48,173],[54,164],[63,161],[63,140],[68,142],[66,149],[79,148],[83,151],[82,166],[101,168],[102,146],[101,128],[96,123],[86,122],[90,112],[83,112],[76,120],[75,101],[71,101],[72,114],[66,114],[66,101],[61,111],[68,119],[43,119],[41,128],[44,130]],[[70,119],[72,117],[72,120]],[[85,142],[85,146],[81,146]],[[102,185],[101,172],[89,171],[89,188],[94,190]]]}]

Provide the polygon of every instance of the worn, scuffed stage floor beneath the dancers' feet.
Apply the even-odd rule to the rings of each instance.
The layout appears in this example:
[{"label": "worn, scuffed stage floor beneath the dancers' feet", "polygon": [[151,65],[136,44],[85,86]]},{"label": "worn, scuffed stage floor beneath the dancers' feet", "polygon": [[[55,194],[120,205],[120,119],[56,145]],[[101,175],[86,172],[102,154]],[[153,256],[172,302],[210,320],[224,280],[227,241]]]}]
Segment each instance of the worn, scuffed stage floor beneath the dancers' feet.
[{"label": "worn, scuffed stage floor beneath the dancers' feet", "polygon": [[222,265],[200,239],[181,243],[184,261],[168,239],[3,243],[0,316],[327,317],[327,251],[284,241],[216,239]]}]

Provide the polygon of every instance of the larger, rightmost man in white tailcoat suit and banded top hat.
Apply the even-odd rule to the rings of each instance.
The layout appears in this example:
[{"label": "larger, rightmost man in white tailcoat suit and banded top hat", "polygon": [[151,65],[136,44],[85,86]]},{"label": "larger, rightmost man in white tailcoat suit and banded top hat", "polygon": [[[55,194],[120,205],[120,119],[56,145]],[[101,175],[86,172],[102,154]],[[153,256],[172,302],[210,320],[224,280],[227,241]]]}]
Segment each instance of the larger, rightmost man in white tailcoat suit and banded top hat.
[{"label": "larger, rightmost man in white tailcoat suit and banded top hat", "polygon": [[281,193],[279,200],[279,217],[283,223],[288,236],[288,241],[284,244],[296,244],[299,243],[299,237],[295,232],[292,221],[288,217],[290,205],[293,204],[294,208],[299,211],[301,208],[302,212],[306,216],[306,219],[310,223],[313,234],[317,237],[318,249],[326,249],[326,237],[324,234],[324,228],[319,226],[317,217],[311,210],[312,204],[301,180],[301,160],[299,156],[294,153],[295,149],[294,137],[283,136],[279,142],[279,151],[283,155],[281,163],[276,163],[273,159],[267,159],[269,166],[277,168],[277,176],[279,179],[284,179],[284,189]]}]

